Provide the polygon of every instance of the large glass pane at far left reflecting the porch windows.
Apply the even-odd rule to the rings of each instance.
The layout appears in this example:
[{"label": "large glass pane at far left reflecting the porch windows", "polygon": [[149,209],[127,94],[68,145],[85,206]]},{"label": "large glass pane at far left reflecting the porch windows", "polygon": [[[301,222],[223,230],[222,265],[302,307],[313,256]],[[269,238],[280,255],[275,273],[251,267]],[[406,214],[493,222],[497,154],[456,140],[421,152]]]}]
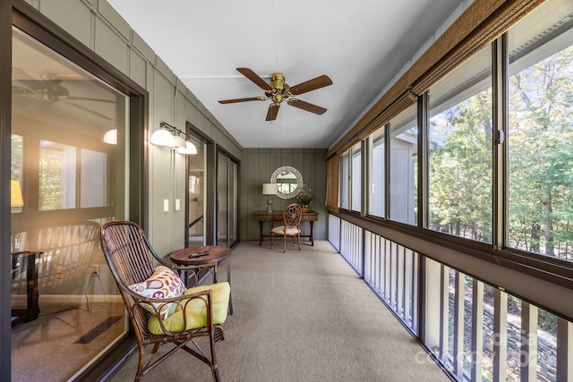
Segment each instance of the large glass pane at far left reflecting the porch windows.
[{"label": "large glass pane at far left reflecting the porch windows", "polygon": [[[13,322],[35,300],[30,267],[40,296],[39,316],[12,329],[13,380],[74,379],[127,333],[99,246],[99,225],[129,216],[127,112],[124,94],[13,29],[11,173],[25,203],[13,209],[11,251],[40,252],[13,256]],[[115,145],[103,140],[110,130]],[[66,360],[56,369],[54,349]]]}]

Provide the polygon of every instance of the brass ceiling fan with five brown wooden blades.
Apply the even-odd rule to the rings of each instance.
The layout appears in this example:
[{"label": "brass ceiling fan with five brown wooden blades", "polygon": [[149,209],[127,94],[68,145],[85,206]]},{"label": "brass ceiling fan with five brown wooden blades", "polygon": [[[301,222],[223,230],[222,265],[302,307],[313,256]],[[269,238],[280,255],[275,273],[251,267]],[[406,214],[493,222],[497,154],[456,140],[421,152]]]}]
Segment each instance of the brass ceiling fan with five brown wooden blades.
[{"label": "brass ceiling fan with five brown wooden blades", "polygon": [[299,109],[303,109],[317,115],[322,115],[326,112],[324,107],[312,105],[295,98],[295,96],[306,93],[307,91],[321,89],[325,86],[332,85],[332,80],[330,80],[329,76],[326,74],[322,74],[321,76],[309,81],[301,82],[295,86],[288,86],[285,82],[285,75],[280,72],[273,73],[270,77],[270,82],[267,83],[257,73],[252,72],[249,68],[236,68],[236,70],[261,88],[265,93],[265,97],[223,99],[218,101],[220,104],[233,104],[235,102],[245,101],[265,101],[270,99],[272,103],[269,105],[266,121],[274,121],[277,119],[278,107],[283,101],[286,101],[289,106],[295,106]]}]

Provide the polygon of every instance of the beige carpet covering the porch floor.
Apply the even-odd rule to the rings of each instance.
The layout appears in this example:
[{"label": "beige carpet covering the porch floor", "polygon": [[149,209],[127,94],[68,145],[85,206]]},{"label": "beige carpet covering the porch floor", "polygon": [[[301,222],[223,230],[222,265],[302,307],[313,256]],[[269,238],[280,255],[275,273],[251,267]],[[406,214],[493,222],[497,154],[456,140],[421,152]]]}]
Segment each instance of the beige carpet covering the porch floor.
[{"label": "beige carpet covering the porch floor", "polygon": [[[329,242],[286,253],[242,242],[231,269],[235,311],[216,344],[223,381],[449,381]],[[137,359],[134,352],[110,380],[133,380]],[[211,377],[176,352],[143,380]]]}]

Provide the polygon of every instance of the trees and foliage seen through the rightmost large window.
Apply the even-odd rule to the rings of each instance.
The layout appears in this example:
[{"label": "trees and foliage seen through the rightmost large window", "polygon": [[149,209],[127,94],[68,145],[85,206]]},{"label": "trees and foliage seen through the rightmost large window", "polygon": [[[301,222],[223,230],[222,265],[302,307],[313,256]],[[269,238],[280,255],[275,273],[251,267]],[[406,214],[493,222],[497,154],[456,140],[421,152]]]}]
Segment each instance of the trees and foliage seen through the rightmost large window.
[{"label": "trees and foliage seen through the rightmost large window", "polygon": [[573,48],[513,75],[509,243],[569,259],[573,232]]}]

